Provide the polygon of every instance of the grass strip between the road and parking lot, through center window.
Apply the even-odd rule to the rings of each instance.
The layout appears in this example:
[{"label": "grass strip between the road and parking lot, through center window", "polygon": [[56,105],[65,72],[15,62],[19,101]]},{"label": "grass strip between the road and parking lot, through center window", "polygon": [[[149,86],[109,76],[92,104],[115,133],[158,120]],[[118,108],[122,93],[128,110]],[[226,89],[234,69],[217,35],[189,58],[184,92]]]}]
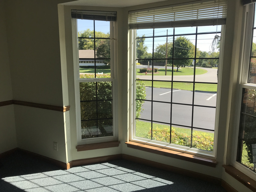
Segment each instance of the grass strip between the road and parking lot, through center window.
[{"label": "grass strip between the road and parking lot, through center window", "polygon": [[[144,83],[146,87],[152,86],[152,82],[150,81],[144,81]],[[164,87],[164,88],[171,89],[172,84],[171,82],[154,81],[153,87],[157,87],[157,88]],[[193,90],[193,83],[173,82],[173,89]],[[217,84],[196,83],[195,90],[217,92]]]}]

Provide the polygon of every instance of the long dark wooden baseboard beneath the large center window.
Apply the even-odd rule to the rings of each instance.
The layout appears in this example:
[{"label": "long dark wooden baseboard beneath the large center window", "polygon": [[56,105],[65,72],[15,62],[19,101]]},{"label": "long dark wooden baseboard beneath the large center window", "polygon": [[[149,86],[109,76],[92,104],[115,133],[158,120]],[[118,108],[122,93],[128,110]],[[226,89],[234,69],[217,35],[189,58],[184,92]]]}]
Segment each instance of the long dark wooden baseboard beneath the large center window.
[{"label": "long dark wooden baseboard beneath the large center window", "polygon": [[210,182],[210,183],[215,183],[215,184],[221,185],[221,179],[219,179],[217,177],[210,176],[210,175],[200,174],[200,173],[189,171],[189,170],[186,170],[186,169],[182,169],[182,168],[174,167],[174,166],[171,166],[171,165],[162,164],[162,163],[159,163],[159,162],[150,161],[150,160],[147,160],[147,159],[142,159],[142,158],[139,158],[139,157],[134,157],[134,156],[131,156],[131,155],[126,155],[126,154],[122,154],[122,159],[137,162],[137,163],[140,163],[140,164],[145,164],[145,165],[150,166],[150,167],[158,168],[158,169],[161,169],[161,170],[165,170],[165,171],[173,172],[173,173],[176,173],[176,174],[185,175],[185,176],[188,176],[188,177],[193,177],[193,178],[197,178],[197,179],[200,179],[200,180],[203,180],[203,181],[207,181],[207,182]]}]

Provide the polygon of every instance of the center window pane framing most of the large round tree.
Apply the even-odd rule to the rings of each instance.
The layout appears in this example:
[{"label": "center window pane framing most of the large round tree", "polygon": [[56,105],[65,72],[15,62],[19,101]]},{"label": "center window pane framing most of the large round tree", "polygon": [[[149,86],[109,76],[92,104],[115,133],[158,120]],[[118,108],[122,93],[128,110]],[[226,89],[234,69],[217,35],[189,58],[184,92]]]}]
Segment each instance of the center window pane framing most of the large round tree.
[{"label": "center window pane framing most of the large round tree", "polygon": [[[177,36],[174,39],[174,58],[195,57],[195,35]],[[184,61],[184,65],[192,65]]]}]

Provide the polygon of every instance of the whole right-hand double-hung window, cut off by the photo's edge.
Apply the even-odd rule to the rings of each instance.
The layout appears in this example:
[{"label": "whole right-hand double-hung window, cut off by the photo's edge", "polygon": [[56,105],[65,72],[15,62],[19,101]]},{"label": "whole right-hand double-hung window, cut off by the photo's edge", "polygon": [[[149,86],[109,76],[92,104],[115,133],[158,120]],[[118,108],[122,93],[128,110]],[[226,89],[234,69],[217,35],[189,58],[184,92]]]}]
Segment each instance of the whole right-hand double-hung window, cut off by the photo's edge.
[{"label": "whole right-hand double-hung window, cut off by the photo's edge", "polygon": [[[245,7],[245,35],[240,70],[237,131],[233,165],[256,176],[256,20],[255,4]],[[254,172],[254,173],[253,173]]]}]

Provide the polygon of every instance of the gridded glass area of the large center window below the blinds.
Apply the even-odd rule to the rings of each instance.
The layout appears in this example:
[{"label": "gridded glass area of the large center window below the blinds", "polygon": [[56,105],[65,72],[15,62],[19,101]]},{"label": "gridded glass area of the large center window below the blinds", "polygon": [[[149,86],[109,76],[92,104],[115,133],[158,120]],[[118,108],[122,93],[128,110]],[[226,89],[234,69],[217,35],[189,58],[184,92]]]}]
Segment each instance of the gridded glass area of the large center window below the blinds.
[{"label": "gridded glass area of the large center window below the blinds", "polygon": [[[136,118],[133,139],[161,141],[164,145],[169,143],[213,151],[219,50],[210,52],[208,39],[212,38],[212,41],[215,35],[220,36],[221,26],[217,26],[217,33],[216,26],[215,32],[209,32],[208,27],[204,28],[205,31],[200,27],[198,33],[198,28],[193,27],[194,32],[187,32],[186,28],[168,28],[168,31],[167,28],[136,30],[136,63],[141,65],[136,65],[135,81],[136,85],[140,86],[145,83],[146,97],[138,96],[137,85],[135,102],[136,105],[140,103],[143,106],[141,116],[134,109]],[[191,27],[189,29],[191,30]],[[155,36],[155,31],[160,32],[161,35],[157,33]],[[203,43],[202,39],[207,40]],[[187,47],[183,51],[184,42],[187,43]],[[197,74],[205,73],[200,68],[202,64],[216,67],[206,68],[208,71],[212,70],[214,78],[205,75],[199,78],[200,75]],[[194,68],[193,65],[200,66]],[[145,75],[145,72],[143,74],[140,70],[143,67],[160,69],[156,74]],[[186,78],[177,74],[182,69],[186,70]],[[201,116],[204,116],[203,121]],[[178,138],[180,135],[183,140]],[[204,141],[209,144],[207,146],[198,144]]]}]

